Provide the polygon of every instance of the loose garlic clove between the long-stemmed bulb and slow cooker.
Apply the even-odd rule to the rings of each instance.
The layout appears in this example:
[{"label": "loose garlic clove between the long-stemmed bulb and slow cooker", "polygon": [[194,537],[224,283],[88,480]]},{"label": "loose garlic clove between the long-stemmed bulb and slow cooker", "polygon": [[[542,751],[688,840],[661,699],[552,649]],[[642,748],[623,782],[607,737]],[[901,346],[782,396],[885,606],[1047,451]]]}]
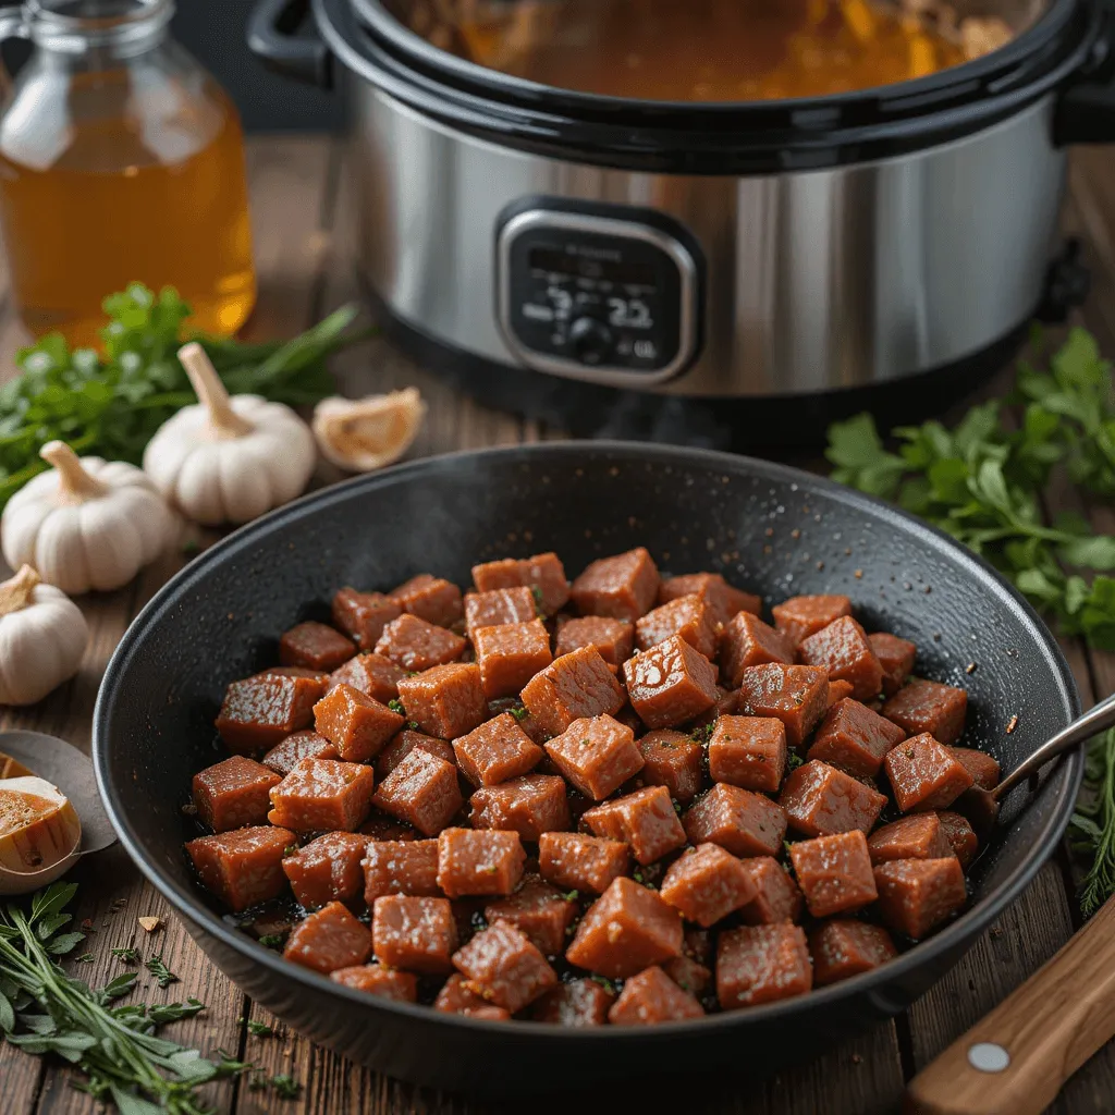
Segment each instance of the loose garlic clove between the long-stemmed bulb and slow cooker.
[{"label": "loose garlic clove between the long-stemmed bulb and slow cooker", "polygon": [[313,436],[322,456],[340,468],[369,473],[394,464],[418,436],[426,404],[416,387],[362,399],[322,399]]}]

